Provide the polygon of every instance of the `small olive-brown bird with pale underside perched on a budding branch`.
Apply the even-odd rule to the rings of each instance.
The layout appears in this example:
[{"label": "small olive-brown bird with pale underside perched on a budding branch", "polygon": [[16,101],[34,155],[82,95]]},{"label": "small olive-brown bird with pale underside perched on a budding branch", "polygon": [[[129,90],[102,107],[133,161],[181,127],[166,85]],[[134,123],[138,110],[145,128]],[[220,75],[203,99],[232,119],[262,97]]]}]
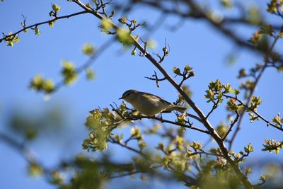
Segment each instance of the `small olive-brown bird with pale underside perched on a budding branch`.
[{"label": "small olive-brown bird with pale underside perched on a budding branch", "polygon": [[187,109],[179,105],[173,105],[159,96],[137,90],[125,91],[119,99],[123,99],[132,104],[132,106],[134,106],[140,113],[147,116],[154,116],[158,113],[171,112],[173,110],[184,113]]}]

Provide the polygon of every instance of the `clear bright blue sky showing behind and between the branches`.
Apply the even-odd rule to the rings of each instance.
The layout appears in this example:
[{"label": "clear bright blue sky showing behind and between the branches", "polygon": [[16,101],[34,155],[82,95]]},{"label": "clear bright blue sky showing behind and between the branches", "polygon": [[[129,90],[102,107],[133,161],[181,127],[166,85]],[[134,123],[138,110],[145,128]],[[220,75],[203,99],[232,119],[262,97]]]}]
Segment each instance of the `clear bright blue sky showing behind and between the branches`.
[{"label": "clear bright blue sky showing behind and between the branches", "polygon": [[[28,25],[47,21],[51,4],[54,2],[49,0],[1,2],[0,31],[8,33],[10,30],[20,29],[20,23],[23,21],[22,14],[27,17]],[[62,7],[59,16],[81,11],[81,8],[67,1],[56,3]],[[260,6],[265,6],[265,3]],[[216,10],[221,10],[219,6],[215,7]],[[158,15],[149,8],[146,9],[146,13],[144,9],[137,8],[128,17],[153,24],[158,19]],[[115,19],[117,20],[119,16],[117,15]],[[209,81],[220,79],[222,83],[229,82],[231,86],[238,88],[241,84],[241,81],[236,78],[238,70],[253,67],[255,63],[262,62],[262,57],[236,47],[229,38],[217,33],[203,21],[187,20],[178,30],[173,32],[168,30],[169,26],[175,25],[178,21],[175,17],[168,18],[151,36],[158,44],[153,52],[161,52],[166,39],[170,45],[170,55],[163,62],[163,67],[171,74],[173,67],[183,68],[185,64],[193,67],[196,76],[189,79],[186,84],[192,90],[192,100],[204,113],[207,113],[212,106],[204,99],[204,91],[207,90]],[[156,88],[154,81],[144,79],[144,76],[151,76],[157,70],[144,57],[132,57],[131,50],[126,50],[117,42],[93,63],[92,69],[96,74],[94,81],[87,81],[81,74],[76,84],[63,86],[52,94],[50,101],[44,101],[41,93],[35,93],[28,88],[30,79],[35,74],[42,74],[54,79],[55,82],[60,81],[59,71],[63,59],[74,62],[77,66],[86,62],[88,58],[81,52],[83,44],[91,42],[99,47],[110,38],[100,33],[98,23],[98,19],[90,15],[76,16],[57,21],[54,23],[54,28],[49,28],[48,25],[41,26],[41,34],[38,36],[34,35],[32,30],[21,33],[21,42],[15,44],[13,48],[7,47],[4,42],[0,44],[0,131],[12,134],[10,130],[7,130],[7,125],[14,112],[39,116],[55,106],[63,111],[64,118],[67,119],[65,124],[67,133],[47,132],[47,136],[40,141],[28,143],[28,146],[35,151],[37,158],[46,166],[56,166],[58,159],[67,159],[72,154],[86,152],[81,149],[81,143],[87,137],[83,124],[88,111],[98,106],[110,107],[109,104],[112,102],[120,103],[117,98],[120,98],[127,89],[135,88],[154,93],[172,102],[178,96],[175,89],[166,81],[161,82],[161,88]],[[137,30],[136,33],[139,32],[144,33],[144,30]],[[253,30],[237,26],[235,32],[245,33],[248,40]],[[282,50],[282,47],[282,42],[279,42],[277,49]],[[233,65],[226,64],[226,57],[231,53],[236,56],[236,63]],[[278,74],[275,69],[267,69],[255,91],[255,96],[260,95],[263,101],[259,112],[269,120],[277,113],[283,112],[282,99],[279,99],[283,90],[282,79],[283,75]],[[192,110],[189,111],[192,113]],[[221,120],[226,119],[224,108],[216,110],[212,116],[210,120],[212,124],[219,124]],[[187,130],[186,136],[191,140],[207,141],[207,137],[191,130]],[[261,121],[250,124],[246,116],[243,129],[238,134],[233,149],[239,151],[252,142],[255,152],[251,154],[251,159],[258,159],[257,155],[261,154],[263,140],[270,138],[282,139],[282,133],[272,127],[266,127]],[[21,142],[21,138],[18,141]],[[115,155],[118,159],[121,158],[120,149],[113,147],[112,150],[118,154]],[[27,175],[27,164],[18,151],[2,142],[0,142],[0,151],[2,170],[0,171],[0,188],[54,188],[42,178],[30,178]],[[282,158],[282,154],[276,156],[264,153],[263,156],[267,159],[278,159],[279,156]]]}]

